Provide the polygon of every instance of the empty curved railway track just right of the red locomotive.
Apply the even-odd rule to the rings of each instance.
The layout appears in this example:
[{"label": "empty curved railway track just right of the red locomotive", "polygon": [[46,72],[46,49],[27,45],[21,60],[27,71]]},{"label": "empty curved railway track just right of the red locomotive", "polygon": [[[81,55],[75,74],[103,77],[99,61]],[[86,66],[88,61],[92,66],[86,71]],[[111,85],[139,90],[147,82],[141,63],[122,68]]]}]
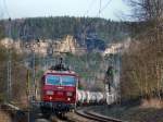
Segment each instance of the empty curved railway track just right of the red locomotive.
[{"label": "empty curved railway track just right of the red locomotive", "polygon": [[89,109],[80,109],[80,110],[77,110],[75,113],[83,118],[86,118],[96,122],[124,122],[118,119],[113,119],[113,118],[98,114],[96,112],[90,111]]}]

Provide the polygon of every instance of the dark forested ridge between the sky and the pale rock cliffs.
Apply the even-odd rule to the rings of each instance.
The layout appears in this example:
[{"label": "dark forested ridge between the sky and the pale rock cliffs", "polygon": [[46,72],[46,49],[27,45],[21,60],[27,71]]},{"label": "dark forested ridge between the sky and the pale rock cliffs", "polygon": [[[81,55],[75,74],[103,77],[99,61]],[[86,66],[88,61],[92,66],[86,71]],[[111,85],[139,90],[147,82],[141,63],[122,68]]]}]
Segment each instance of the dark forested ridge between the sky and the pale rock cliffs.
[{"label": "dark forested ridge between the sky and the pale rock cliffs", "polygon": [[91,17],[35,17],[2,22],[5,36],[29,40],[34,38],[57,39],[72,35],[83,44],[84,38],[100,38],[105,42],[118,41],[128,35],[127,22],[113,22],[104,19]]}]

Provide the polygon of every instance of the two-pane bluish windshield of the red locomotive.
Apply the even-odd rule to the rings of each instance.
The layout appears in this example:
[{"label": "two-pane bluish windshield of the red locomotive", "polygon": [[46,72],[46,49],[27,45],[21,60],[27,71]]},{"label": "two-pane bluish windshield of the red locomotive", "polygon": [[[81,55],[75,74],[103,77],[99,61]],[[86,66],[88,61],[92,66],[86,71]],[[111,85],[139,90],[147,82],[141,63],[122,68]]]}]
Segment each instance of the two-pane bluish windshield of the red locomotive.
[{"label": "two-pane bluish windshield of the red locomotive", "polygon": [[63,85],[63,86],[75,86],[76,78],[67,75],[47,75],[46,84],[49,85]]}]

